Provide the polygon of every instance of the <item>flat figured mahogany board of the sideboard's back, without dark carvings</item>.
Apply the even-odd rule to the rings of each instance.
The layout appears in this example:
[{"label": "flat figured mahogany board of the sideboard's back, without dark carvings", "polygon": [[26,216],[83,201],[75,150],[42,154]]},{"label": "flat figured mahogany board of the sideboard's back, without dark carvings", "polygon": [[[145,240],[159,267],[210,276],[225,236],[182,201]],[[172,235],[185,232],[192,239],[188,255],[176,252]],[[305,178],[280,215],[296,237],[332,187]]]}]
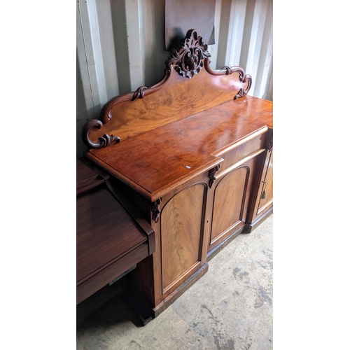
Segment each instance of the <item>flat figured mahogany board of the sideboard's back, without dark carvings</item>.
[{"label": "flat figured mahogany board of the sideboard's back, without dark carvings", "polygon": [[[192,116],[235,98],[247,86],[239,80],[239,72],[213,75],[206,69],[193,78],[180,76],[171,69],[168,76],[154,87],[144,87],[144,97],[130,92],[111,99],[100,114],[104,125],[90,132],[92,141],[103,134],[113,134],[122,142],[137,134]],[[198,87],[205,87],[199,89]],[[160,88],[161,87],[161,88]],[[140,96],[140,97],[139,97]]]}]

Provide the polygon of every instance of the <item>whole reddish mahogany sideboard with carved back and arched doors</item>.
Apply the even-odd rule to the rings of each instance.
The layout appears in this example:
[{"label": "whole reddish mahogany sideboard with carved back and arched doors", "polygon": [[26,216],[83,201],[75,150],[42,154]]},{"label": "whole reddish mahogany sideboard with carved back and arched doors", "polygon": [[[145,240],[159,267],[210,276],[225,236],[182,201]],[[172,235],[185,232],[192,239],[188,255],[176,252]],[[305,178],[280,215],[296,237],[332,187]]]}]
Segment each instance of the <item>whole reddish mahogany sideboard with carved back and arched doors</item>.
[{"label": "whole reddish mahogany sideboard with carved back and arched doors", "polygon": [[153,316],[272,211],[272,102],[247,96],[241,67],[211,69],[194,30],[165,63],[160,83],[111,99],[83,129],[85,158],[155,231],[155,252],[130,274]]}]

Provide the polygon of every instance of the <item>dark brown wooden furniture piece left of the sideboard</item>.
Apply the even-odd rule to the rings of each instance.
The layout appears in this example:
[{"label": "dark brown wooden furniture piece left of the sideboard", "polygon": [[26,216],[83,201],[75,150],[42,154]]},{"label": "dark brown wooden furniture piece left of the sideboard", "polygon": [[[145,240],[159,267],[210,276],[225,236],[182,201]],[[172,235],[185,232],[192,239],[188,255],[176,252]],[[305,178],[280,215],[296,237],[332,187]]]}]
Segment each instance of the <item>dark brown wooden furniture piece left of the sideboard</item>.
[{"label": "dark brown wooden furniture piece left of the sideboard", "polygon": [[[154,231],[118,193],[110,176],[77,160],[76,303],[125,274],[155,250]],[[123,203],[123,204],[122,204]]]}]

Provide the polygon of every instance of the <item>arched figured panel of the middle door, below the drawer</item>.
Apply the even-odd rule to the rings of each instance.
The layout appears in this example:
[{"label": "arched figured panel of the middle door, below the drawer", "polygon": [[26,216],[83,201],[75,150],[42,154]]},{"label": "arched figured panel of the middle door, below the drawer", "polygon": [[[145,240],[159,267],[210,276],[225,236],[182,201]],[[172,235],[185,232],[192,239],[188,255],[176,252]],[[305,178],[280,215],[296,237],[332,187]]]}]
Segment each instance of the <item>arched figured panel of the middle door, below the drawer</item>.
[{"label": "arched figured panel of the middle door, below the drawer", "polygon": [[[244,221],[244,203],[250,169],[239,167],[217,183],[211,223],[210,245]],[[243,225],[243,224],[242,224]],[[210,249],[210,248],[209,248]]]}]

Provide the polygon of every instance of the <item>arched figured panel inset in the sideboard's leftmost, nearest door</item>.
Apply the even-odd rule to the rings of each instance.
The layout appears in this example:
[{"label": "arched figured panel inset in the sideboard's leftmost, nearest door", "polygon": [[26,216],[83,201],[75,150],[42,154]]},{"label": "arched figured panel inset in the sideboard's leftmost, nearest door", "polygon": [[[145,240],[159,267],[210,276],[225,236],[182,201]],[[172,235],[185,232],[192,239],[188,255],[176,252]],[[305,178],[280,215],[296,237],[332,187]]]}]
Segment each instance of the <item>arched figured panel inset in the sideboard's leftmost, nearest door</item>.
[{"label": "arched figured panel inset in the sideboard's leftmost, nearest door", "polygon": [[162,293],[200,268],[207,183],[196,183],[172,197],[160,215]]}]

